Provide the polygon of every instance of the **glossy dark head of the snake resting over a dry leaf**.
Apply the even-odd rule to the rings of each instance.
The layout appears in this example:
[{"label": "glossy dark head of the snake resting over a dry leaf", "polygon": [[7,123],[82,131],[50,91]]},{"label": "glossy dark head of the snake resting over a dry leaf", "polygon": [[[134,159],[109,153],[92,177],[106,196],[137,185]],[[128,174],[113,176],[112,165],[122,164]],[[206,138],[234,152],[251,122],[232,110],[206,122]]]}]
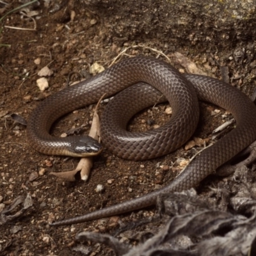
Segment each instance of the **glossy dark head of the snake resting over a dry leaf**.
[{"label": "glossy dark head of the snake resting over a dry leaf", "polygon": [[74,140],[70,145],[70,150],[77,156],[96,156],[102,151],[102,145],[90,136],[74,137]]}]

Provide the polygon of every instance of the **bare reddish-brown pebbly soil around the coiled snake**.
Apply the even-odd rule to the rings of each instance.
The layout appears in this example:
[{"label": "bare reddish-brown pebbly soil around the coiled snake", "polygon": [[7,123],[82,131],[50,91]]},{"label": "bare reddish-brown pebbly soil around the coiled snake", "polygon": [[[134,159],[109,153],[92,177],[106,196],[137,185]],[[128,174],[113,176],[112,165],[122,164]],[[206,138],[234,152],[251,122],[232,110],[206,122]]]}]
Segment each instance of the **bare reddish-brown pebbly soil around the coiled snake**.
[{"label": "bare reddish-brown pebbly soil around the coiled snake", "polygon": [[[12,10],[17,5],[8,7]],[[108,40],[108,28],[102,27],[92,13],[77,5],[70,10],[63,8],[51,13],[52,6],[36,7],[36,30],[4,28],[1,33],[0,47],[0,204],[7,207],[17,196],[33,198],[33,207],[21,218],[0,227],[1,255],[81,255],[72,250],[76,244],[74,237],[81,230],[94,232],[114,232],[125,223],[154,215],[155,207],[72,225],[72,227],[50,227],[49,221],[79,216],[95,209],[124,202],[136,196],[145,195],[156,188],[170,183],[181,170],[180,161],[195,154],[194,149],[180,148],[173,154],[150,161],[127,161],[113,156],[107,148],[99,157],[95,157],[90,179],[87,182],[77,180],[67,182],[49,175],[50,172],[73,170],[79,159],[72,157],[45,156],[33,150],[26,138],[26,126],[12,120],[10,114],[16,113],[26,120],[35,107],[45,97],[67,86],[70,72],[90,72],[90,66],[97,62],[105,68],[125,47],[143,44],[163,51],[173,60],[171,47],[157,38],[140,42],[111,42]],[[6,10],[7,12],[7,10]],[[73,16],[75,14],[75,16]],[[40,18],[40,19],[38,19]],[[118,20],[116,20],[118,22]],[[5,26],[34,28],[34,23],[19,12],[6,17]],[[113,24],[115,26],[115,24]],[[241,42],[236,49],[222,49],[220,52],[196,52],[189,54],[188,47],[176,50],[182,52],[198,67],[212,76],[221,78],[221,66],[229,68],[230,83],[250,95],[253,92],[255,67],[253,42]],[[194,46],[195,47],[195,46]],[[200,45],[197,45],[200,49]],[[234,52],[241,50],[242,57],[234,58]],[[224,51],[225,50],[225,51]],[[158,53],[146,48],[129,49],[125,54],[158,57]],[[166,60],[161,56],[163,60]],[[243,59],[242,59],[243,58]],[[173,65],[184,69],[173,60]],[[48,66],[53,74],[47,77],[49,88],[40,92],[36,80],[38,71]],[[79,79],[77,74],[70,76],[71,81]],[[100,106],[100,113],[105,104]],[[211,132],[218,125],[232,116],[220,109],[217,115],[212,111],[216,106],[201,103],[200,124],[195,132],[198,138],[211,138]],[[170,118],[165,113],[167,104],[156,109],[147,109],[135,116],[131,130],[152,129],[154,124],[162,125]],[[54,125],[53,134],[60,136],[74,127],[85,126],[84,133],[90,129],[93,108],[79,109],[61,118]],[[200,148],[196,148],[200,149]],[[44,172],[45,171],[45,172]],[[207,185],[216,186],[221,178],[209,177],[197,188],[207,195]],[[102,193],[97,193],[98,184],[104,186]],[[150,225],[149,225],[150,228]],[[127,243],[138,241],[127,239]],[[114,255],[113,251],[101,244],[88,243],[88,255]]]}]

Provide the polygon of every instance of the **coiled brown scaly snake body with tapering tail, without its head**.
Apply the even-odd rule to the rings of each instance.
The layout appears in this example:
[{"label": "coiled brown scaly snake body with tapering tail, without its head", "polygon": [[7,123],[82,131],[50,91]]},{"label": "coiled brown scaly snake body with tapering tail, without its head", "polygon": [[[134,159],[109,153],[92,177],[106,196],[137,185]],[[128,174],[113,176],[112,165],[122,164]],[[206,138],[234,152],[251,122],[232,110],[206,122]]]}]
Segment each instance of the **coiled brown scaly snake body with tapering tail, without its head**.
[{"label": "coiled brown scaly snake body with tapering tail, without its head", "polygon": [[[141,108],[154,104],[159,98],[159,93],[147,84],[131,86],[139,82],[151,84],[161,91],[170,102],[173,114],[170,122],[159,129],[131,134],[125,131],[129,118]],[[117,63],[97,76],[45,99],[29,118],[29,143],[44,154],[68,154],[70,147],[72,150],[81,150],[83,139],[80,136],[64,140],[50,136],[49,129],[53,122],[65,113],[97,102],[104,93],[109,97],[128,86],[131,86],[127,89],[128,94],[125,90],[115,97],[115,103],[108,104],[101,122],[102,141],[116,156],[136,160],[150,159],[180,147],[195,131],[199,115],[197,97],[230,111],[236,118],[236,128],[204,150],[164,188],[83,216],[56,221],[51,225],[80,223],[156,204],[157,196],[161,194],[196,186],[256,139],[256,108],[238,89],[211,77],[181,75],[164,61],[136,57]],[[122,107],[123,102],[126,104],[125,108]],[[74,147],[77,140],[78,146]],[[93,151],[97,150],[101,150],[99,145],[93,148]],[[72,152],[70,155],[77,156],[78,153]]]}]

